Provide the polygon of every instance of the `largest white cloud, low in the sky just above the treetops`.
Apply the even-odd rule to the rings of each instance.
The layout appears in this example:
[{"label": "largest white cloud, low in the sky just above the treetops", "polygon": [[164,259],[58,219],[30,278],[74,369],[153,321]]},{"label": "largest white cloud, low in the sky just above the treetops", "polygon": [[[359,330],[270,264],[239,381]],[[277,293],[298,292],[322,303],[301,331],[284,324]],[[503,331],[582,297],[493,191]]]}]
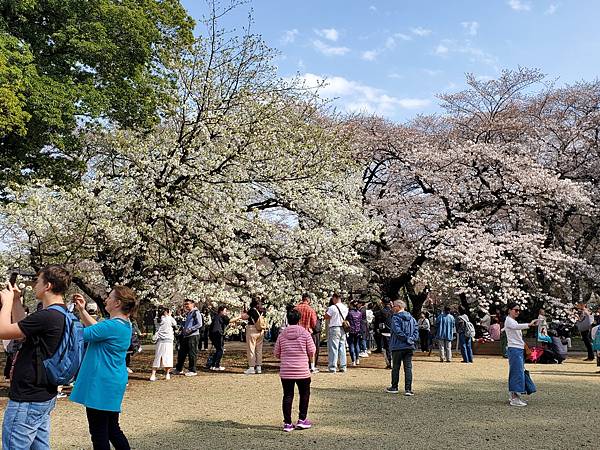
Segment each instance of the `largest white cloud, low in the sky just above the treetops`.
[{"label": "largest white cloud, low in the sky just above the treetops", "polygon": [[337,103],[347,112],[389,116],[399,109],[422,109],[431,104],[429,99],[394,97],[383,89],[367,86],[344,77],[321,77],[306,73],[302,78],[307,87],[316,87],[325,79],[325,85],[319,89],[320,95],[325,98],[337,99]]}]

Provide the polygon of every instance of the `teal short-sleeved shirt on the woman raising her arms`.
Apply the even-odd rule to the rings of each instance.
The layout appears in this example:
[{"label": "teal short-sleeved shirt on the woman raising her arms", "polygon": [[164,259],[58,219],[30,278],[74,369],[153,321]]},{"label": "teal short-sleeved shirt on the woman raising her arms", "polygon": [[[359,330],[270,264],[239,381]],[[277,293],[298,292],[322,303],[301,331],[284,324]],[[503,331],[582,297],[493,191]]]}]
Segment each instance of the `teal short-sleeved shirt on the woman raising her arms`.
[{"label": "teal short-sleeved shirt on the woman raising her arms", "polygon": [[83,329],[88,344],[71,401],[87,408],[121,412],[127,386],[125,354],[131,341],[131,323],[107,319]]}]

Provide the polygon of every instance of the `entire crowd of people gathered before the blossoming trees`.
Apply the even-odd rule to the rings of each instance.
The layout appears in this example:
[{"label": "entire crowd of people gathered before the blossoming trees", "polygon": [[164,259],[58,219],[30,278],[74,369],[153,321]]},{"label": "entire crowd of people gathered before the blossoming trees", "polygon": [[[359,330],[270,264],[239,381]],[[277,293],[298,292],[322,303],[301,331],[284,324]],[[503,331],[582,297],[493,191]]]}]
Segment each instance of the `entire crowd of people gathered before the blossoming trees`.
[{"label": "entire crowd of people gathered before the blossoming trees", "polygon": [[[10,400],[4,412],[2,434],[5,449],[50,448],[50,414],[61,389],[61,383],[55,381],[60,378],[56,378],[51,370],[55,364],[51,360],[53,355],[61,352],[69,356],[65,361],[77,363],[77,370],[72,373],[74,382],[70,399],[86,408],[94,449],[110,449],[111,444],[115,449],[130,448],[119,426],[119,414],[128,384],[127,355],[132,353],[132,346],[136,347],[133,340],[137,332],[132,318],[138,299],[131,289],[114,287],[104,301],[107,317],[101,319],[96,314],[97,308],[91,307],[93,303],[86,303],[82,295],[75,294],[72,305],[76,318],[65,300],[70,283],[71,275],[61,266],[41,269],[33,286],[40,304],[32,314],[27,314],[16,285],[9,283],[0,292],[0,338],[9,340],[11,349],[7,358],[8,370],[5,370],[10,379]],[[382,352],[386,368],[391,369],[391,383],[385,391],[390,394],[400,392],[400,370],[403,368],[404,395],[409,397],[414,395],[412,359],[417,349],[431,355],[437,346],[440,362],[450,363],[452,343],[456,341],[462,362],[471,364],[476,334],[482,342],[501,342],[509,366],[509,404],[518,407],[527,406],[523,395],[536,390],[525,370],[525,361],[531,359],[533,352],[530,349],[528,353],[522,331],[536,330],[536,343],[552,362],[562,362],[570,345],[568,333],[560,323],[555,325],[550,321],[549,325],[544,310],[539,311],[535,320],[519,323],[521,307],[516,303],[508,305],[506,314],[500,310],[494,316],[482,314],[477,324],[471,321],[469,311],[462,305],[456,316],[449,306],[444,307],[435,320],[431,319],[435,314],[425,310],[416,320],[406,307],[399,299],[384,299],[381,304],[351,301],[346,305],[336,293],[323,316],[318,317],[311,305],[311,296],[303,294],[297,304],[289,305],[283,323],[280,327],[274,325],[275,330],[268,329],[266,311],[259,299],[253,299],[248,309],[234,318],[229,317],[225,305],[211,311],[206,306],[199,309],[193,300],[186,299],[179,318],[173,317],[169,308],[163,307],[157,312],[150,381],[158,380],[161,369],[166,380],[172,374],[197,376],[198,351],[202,347],[208,349],[207,341],[212,344],[213,352],[207,358],[206,369],[225,370],[222,357],[227,327],[240,323],[245,323],[248,367],[244,374],[261,374],[265,333],[270,332],[273,338],[276,336],[274,356],[281,362],[283,430],[289,432],[312,426],[308,419],[310,385],[312,375],[319,372],[323,335],[327,340],[329,373],[347,372],[347,353],[355,367],[371,352]],[[576,327],[588,351],[586,360],[596,358],[600,366],[599,327],[594,326],[594,317],[587,307],[581,306],[578,311]],[[81,329],[76,326],[79,323],[83,325]],[[78,336],[82,346],[79,353]],[[539,355],[538,360],[541,362]],[[186,362],[187,369],[184,367]],[[294,423],[292,404],[296,386],[299,416]],[[32,415],[35,415],[35,421],[31,420]]]}]

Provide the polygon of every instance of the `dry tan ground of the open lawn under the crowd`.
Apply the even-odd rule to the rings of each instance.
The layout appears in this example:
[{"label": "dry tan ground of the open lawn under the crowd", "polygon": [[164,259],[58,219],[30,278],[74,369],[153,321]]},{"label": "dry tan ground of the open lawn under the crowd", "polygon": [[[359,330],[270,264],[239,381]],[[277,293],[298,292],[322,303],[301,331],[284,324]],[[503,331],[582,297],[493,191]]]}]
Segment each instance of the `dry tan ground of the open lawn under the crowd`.
[{"label": "dry tan ground of the open lawn under the crowd", "polygon": [[[442,364],[416,353],[414,397],[384,392],[390,372],[381,355],[346,374],[313,376],[306,431],[281,430],[277,363],[265,348],[262,375],[243,375],[243,347],[228,343],[227,371],[147,381],[152,352],[133,360],[121,426],[134,449],[257,448],[598,448],[600,374],[573,357],[562,365],[528,365],[538,392],[527,408],[508,406],[508,363],[455,356]],[[321,349],[321,361],[325,361]],[[206,360],[201,353],[199,361]],[[401,379],[401,387],[402,387]],[[7,401],[0,391],[0,407]],[[297,418],[297,402],[294,404]],[[52,415],[53,449],[91,448],[82,406],[60,399]]]}]

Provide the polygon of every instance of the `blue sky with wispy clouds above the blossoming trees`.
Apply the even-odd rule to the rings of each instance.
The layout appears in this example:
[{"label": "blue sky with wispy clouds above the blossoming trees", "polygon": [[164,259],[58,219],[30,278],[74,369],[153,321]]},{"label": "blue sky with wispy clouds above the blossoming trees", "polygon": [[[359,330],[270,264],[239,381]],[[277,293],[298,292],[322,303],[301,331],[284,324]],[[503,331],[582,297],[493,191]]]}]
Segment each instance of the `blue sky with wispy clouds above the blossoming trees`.
[{"label": "blue sky with wispy clouds above the blossoming trees", "polygon": [[[183,0],[200,19],[203,0]],[[278,49],[280,75],[326,78],[339,108],[404,121],[439,111],[464,73],[535,67],[558,84],[600,70],[598,0],[254,0],[229,15]]]}]

